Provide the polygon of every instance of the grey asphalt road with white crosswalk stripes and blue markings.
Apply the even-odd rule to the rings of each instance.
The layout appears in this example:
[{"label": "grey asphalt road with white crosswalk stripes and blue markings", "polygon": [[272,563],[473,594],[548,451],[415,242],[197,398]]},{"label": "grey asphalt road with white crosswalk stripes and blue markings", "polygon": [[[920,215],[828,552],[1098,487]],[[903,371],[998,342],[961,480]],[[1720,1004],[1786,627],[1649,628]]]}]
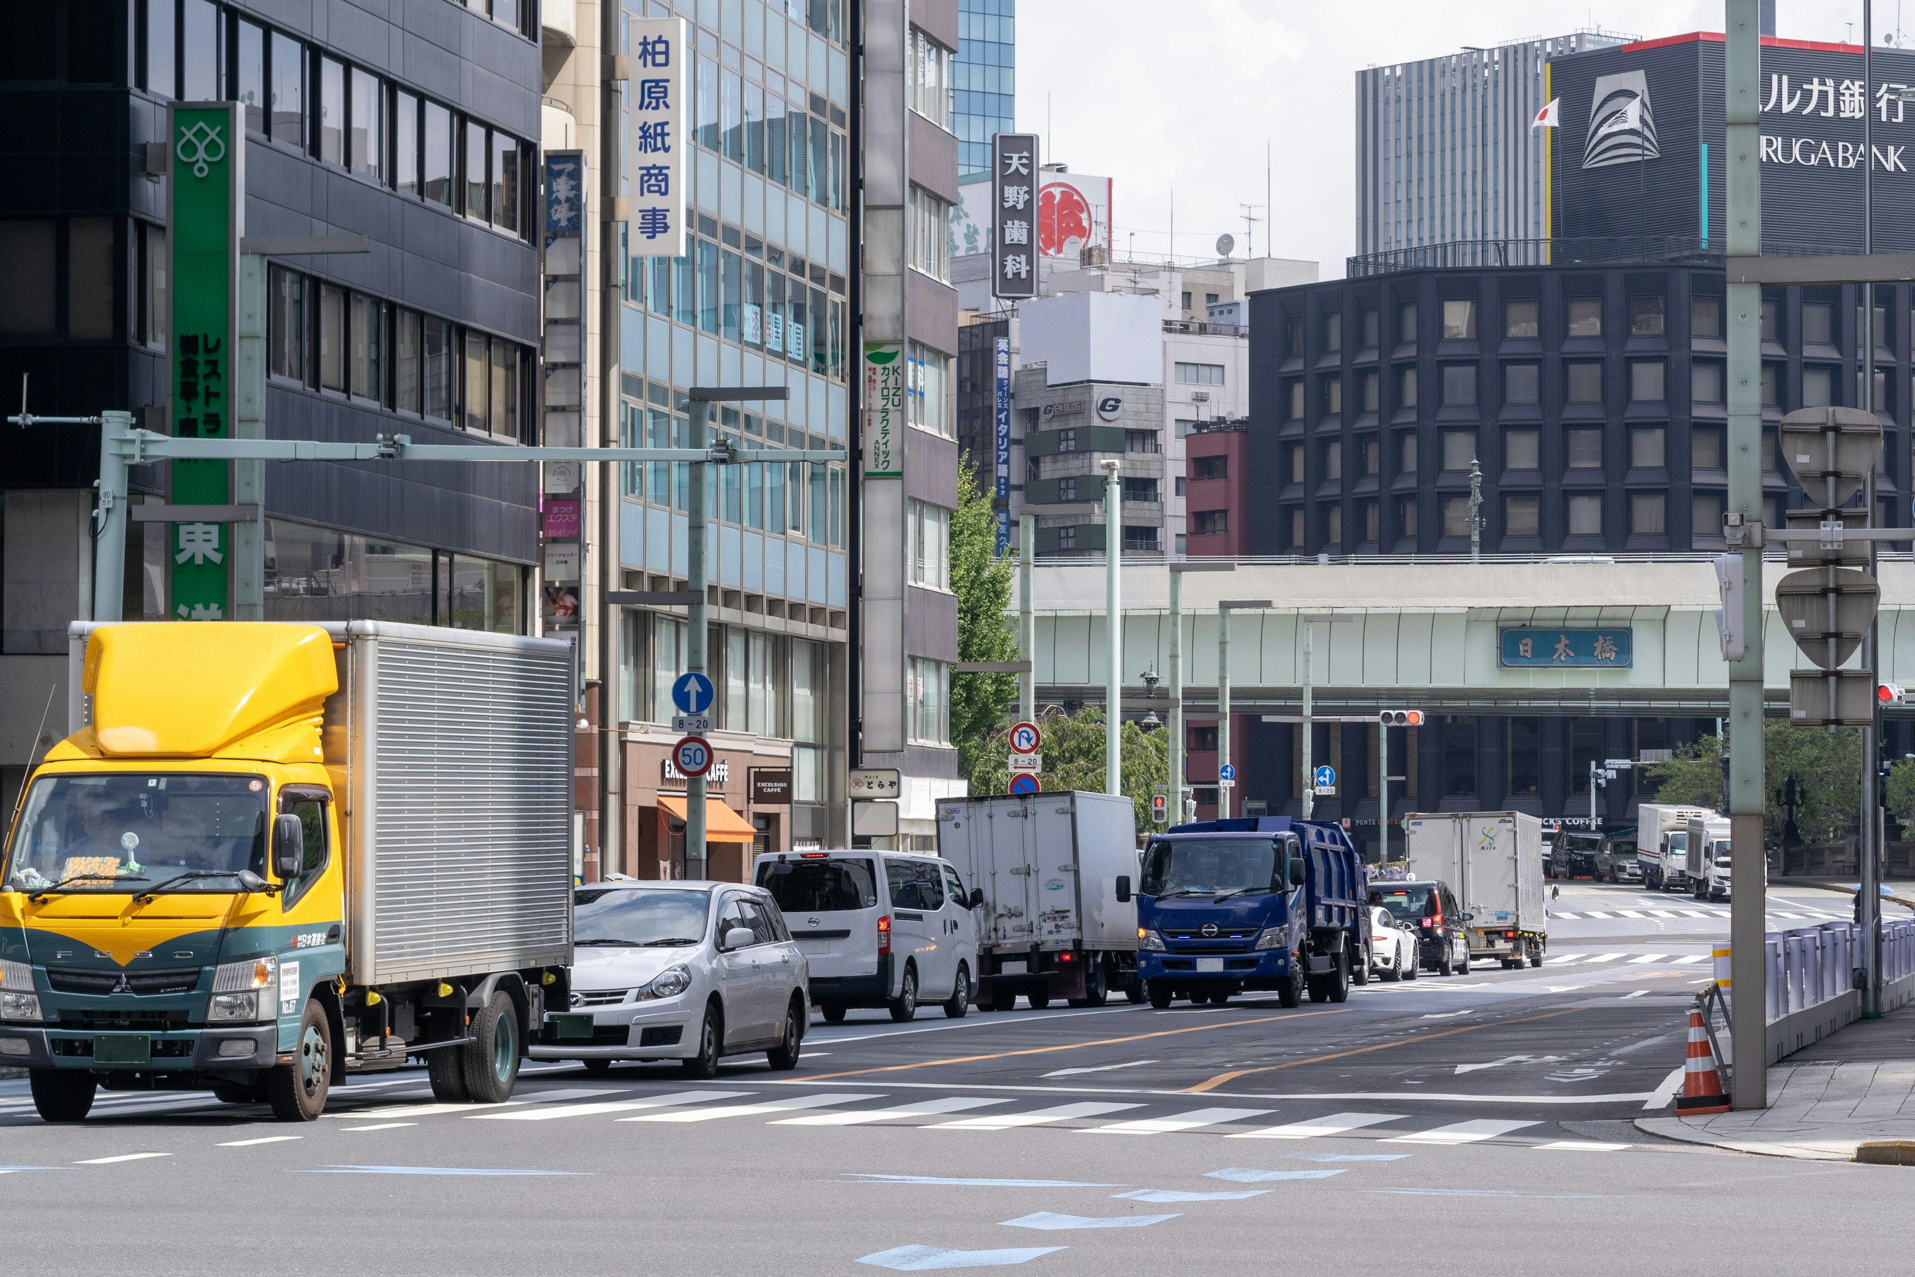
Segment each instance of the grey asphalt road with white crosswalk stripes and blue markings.
[{"label": "grey asphalt road with white crosswalk stripes and blue markings", "polygon": [[[1674,1145],[1725,907],[1565,885],[1549,961],[1371,982],[1344,1005],[852,1013],[802,1066],[709,1084],[529,1066],[515,1103],[423,1072],[316,1124],[101,1095],[44,1126],[0,1082],[23,1273],[1789,1273],[1900,1264],[1861,1227],[1915,1172]],[[1720,915],[1720,917],[1718,917]],[[1796,915],[1796,917],[1789,917]],[[1771,925],[1848,917],[1771,892]]]}]

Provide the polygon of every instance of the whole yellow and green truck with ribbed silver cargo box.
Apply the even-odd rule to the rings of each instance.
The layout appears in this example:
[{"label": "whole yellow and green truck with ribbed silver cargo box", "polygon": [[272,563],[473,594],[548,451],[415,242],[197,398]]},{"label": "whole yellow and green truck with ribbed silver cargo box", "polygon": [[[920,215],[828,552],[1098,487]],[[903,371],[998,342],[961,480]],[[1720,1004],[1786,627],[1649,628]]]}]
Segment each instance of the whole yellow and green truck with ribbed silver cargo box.
[{"label": "whole yellow and green truck with ribbed silver cargo box", "polygon": [[573,653],[387,622],[77,624],[0,863],[0,1064],[312,1120],[504,1101],[571,963]]}]

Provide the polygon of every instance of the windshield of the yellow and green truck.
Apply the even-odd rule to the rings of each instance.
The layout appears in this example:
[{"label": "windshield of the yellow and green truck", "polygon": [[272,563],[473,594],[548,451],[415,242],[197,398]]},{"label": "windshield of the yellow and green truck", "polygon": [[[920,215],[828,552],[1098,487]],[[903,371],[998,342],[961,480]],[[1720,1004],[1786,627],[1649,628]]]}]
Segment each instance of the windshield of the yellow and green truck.
[{"label": "windshield of the yellow and green truck", "polygon": [[[33,783],[8,854],[21,890],[134,892],[190,871],[266,873],[266,781],[259,775],[113,772]],[[232,879],[169,890],[232,892]]]}]

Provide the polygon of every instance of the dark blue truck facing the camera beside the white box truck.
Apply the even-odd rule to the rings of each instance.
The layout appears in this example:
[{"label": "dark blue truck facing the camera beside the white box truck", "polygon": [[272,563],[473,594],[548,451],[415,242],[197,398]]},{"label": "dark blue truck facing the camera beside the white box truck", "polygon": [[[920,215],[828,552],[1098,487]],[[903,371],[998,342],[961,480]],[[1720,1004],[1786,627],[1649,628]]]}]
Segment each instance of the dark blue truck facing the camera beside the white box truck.
[{"label": "dark blue truck facing the camera beside the white box truck", "polygon": [[1339,825],[1206,819],[1155,835],[1138,879],[1138,975],[1153,1007],[1275,990],[1344,1001],[1367,976],[1363,862]]}]

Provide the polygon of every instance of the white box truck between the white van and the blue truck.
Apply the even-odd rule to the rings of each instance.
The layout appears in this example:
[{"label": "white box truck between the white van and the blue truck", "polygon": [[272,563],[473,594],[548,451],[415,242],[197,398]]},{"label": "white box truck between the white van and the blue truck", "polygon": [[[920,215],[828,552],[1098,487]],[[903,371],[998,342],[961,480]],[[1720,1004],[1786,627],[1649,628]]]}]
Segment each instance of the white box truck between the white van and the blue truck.
[{"label": "white box truck between the white van and the blue truck", "polygon": [[979,1001],[1103,1005],[1138,984],[1138,819],[1130,798],[1080,791],[938,800],[938,854],[984,892]]}]

